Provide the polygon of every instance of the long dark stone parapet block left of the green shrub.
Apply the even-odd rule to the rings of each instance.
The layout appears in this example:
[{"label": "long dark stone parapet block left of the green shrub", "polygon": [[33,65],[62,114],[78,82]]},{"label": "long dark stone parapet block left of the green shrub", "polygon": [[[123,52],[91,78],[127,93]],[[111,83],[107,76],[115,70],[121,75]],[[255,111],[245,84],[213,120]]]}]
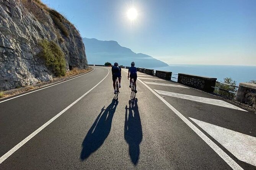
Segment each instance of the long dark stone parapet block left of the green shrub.
[{"label": "long dark stone parapet block left of the green shrub", "polygon": [[191,74],[178,74],[178,83],[187,85],[189,87],[197,88],[199,90],[212,93],[214,91],[217,78],[203,77]]}]

